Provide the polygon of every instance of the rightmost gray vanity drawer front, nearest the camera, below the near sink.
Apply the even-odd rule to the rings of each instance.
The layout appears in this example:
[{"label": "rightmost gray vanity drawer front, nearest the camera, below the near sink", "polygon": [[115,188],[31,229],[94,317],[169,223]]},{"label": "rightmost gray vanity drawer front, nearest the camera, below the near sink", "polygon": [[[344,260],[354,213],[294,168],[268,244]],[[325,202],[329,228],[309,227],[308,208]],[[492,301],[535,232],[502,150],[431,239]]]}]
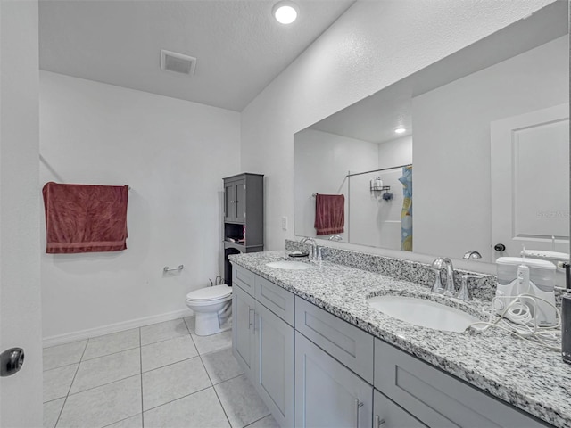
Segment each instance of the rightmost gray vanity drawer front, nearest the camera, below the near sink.
[{"label": "rightmost gray vanity drawer front, nearest the camera, below the near sink", "polygon": [[545,426],[378,339],[375,340],[375,387],[428,426]]}]

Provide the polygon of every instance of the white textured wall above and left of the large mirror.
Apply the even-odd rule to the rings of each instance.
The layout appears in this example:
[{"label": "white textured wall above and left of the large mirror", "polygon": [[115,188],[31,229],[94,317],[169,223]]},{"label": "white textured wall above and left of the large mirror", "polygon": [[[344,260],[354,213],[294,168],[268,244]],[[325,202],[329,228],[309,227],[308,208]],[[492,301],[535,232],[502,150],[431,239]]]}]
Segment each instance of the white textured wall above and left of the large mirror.
[{"label": "white textured wall above and left of the large mirror", "polygon": [[265,248],[294,239],[280,218],[294,214],[295,132],[550,3],[353,4],[242,112],[242,168],[266,174]]}]

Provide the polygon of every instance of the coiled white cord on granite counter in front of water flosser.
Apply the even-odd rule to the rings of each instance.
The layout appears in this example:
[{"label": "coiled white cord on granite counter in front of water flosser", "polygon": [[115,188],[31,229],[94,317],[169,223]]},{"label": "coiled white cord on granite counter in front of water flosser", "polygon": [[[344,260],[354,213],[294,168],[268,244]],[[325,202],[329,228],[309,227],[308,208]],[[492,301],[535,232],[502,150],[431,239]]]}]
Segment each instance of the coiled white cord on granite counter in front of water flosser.
[{"label": "coiled white cord on granite counter in front of water flosser", "polygon": [[[485,315],[489,315],[489,321],[478,321],[471,325],[468,325],[467,329],[471,327],[476,327],[474,330],[477,332],[483,332],[490,327],[498,327],[501,330],[505,330],[520,339],[525,341],[538,342],[542,346],[550,350],[561,350],[561,313],[557,307],[553,306],[550,301],[544,300],[541,297],[534,296],[532,294],[519,294],[517,296],[507,296],[512,300],[509,305],[504,309],[500,315],[497,315],[494,311],[494,302],[498,298],[494,297],[492,299],[492,309],[489,314],[484,311]],[[525,300],[533,300],[536,303],[537,300],[542,300],[548,303],[551,307],[555,308],[557,314],[557,324],[549,327],[542,327],[537,325],[537,321],[532,316],[531,309],[525,303]],[[483,328],[479,326],[484,325]]]}]

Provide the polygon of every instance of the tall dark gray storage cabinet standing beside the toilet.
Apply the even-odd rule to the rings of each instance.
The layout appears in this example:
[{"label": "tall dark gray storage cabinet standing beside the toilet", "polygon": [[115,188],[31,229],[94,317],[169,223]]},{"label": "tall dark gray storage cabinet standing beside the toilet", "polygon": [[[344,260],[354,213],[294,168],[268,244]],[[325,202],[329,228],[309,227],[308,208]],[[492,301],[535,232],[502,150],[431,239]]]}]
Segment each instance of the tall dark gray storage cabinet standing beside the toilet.
[{"label": "tall dark gray storage cabinet standing beside the toilet", "polygon": [[[264,250],[264,176],[245,172],[224,178],[224,277],[232,285],[228,255]],[[244,236],[245,231],[245,236]],[[232,242],[242,240],[244,242]]]}]

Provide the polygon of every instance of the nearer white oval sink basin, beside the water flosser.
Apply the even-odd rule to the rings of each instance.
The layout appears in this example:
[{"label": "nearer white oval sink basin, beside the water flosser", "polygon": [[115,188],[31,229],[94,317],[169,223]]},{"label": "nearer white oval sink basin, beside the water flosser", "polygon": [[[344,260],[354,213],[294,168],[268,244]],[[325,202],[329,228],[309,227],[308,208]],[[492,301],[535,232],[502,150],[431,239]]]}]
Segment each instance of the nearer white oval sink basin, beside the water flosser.
[{"label": "nearer white oval sink basin, beside the water flosser", "polygon": [[459,309],[414,297],[376,296],[369,298],[368,304],[389,317],[446,332],[461,333],[468,325],[480,321]]}]

